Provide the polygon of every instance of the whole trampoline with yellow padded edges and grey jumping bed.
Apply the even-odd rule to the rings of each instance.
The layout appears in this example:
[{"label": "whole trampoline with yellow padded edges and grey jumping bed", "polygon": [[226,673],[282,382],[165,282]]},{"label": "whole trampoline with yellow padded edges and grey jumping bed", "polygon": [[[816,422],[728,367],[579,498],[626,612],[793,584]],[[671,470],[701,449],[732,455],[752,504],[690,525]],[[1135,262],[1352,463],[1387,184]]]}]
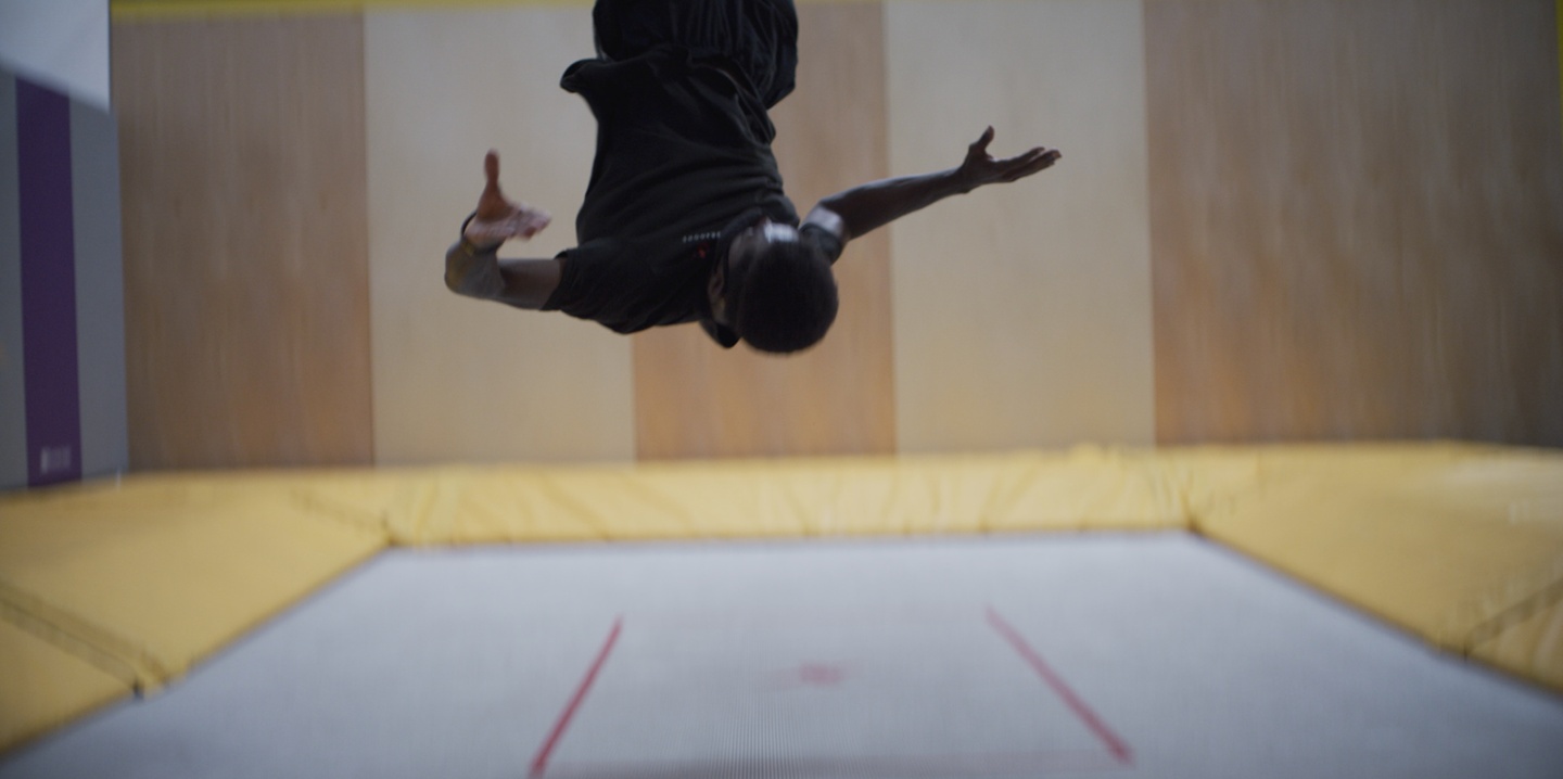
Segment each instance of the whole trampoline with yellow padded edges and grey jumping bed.
[{"label": "whole trampoline with yellow padded edges and grey jumping bed", "polygon": [[0,779],[1555,777],[1560,468],[1080,448],[8,495]]}]

